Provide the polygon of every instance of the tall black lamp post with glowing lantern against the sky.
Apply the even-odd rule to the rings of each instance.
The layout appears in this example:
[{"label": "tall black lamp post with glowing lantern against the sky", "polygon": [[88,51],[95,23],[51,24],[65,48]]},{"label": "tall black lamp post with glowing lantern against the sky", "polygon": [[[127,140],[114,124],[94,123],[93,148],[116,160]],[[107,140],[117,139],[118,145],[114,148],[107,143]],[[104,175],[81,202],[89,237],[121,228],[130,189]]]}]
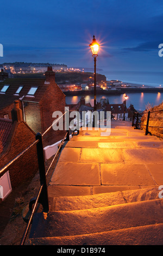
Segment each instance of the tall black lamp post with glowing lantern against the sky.
[{"label": "tall black lamp post with glowing lantern against the sky", "polygon": [[[96,111],[96,58],[98,56],[99,44],[96,42],[95,35],[93,35],[93,40],[89,45],[92,51],[92,57],[94,58],[94,108],[93,111]],[[95,115],[93,115],[93,127],[95,127]]]}]

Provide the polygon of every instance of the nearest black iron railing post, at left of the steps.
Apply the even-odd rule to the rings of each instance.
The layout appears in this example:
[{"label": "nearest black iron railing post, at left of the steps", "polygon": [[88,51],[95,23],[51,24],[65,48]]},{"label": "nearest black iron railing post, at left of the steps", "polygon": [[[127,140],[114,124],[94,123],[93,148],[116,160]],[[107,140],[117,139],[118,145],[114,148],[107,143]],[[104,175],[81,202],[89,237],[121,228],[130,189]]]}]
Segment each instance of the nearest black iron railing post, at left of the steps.
[{"label": "nearest black iron railing post, at left of the steps", "polygon": [[45,159],[43,153],[43,144],[42,144],[42,135],[40,132],[36,134],[36,140],[39,139],[37,143],[37,160],[39,164],[39,173],[40,173],[40,185],[42,187],[42,191],[39,198],[39,203],[43,206],[43,211],[49,211],[49,203],[48,203],[48,193],[47,193],[47,184],[46,184],[46,171],[45,171]]}]

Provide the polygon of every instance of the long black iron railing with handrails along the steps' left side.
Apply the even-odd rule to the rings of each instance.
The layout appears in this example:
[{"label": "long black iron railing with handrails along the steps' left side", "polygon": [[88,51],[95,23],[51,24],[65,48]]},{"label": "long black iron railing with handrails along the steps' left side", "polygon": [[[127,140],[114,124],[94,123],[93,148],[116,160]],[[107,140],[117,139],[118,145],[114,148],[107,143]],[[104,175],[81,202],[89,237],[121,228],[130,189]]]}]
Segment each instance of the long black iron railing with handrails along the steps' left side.
[{"label": "long black iron railing with handrails along the steps' left side", "polygon": [[[65,115],[65,113],[63,115]],[[63,115],[61,115],[61,117]],[[39,174],[40,174],[40,189],[39,189],[39,192],[37,193],[37,197],[31,199],[29,202],[29,213],[30,214],[29,214],[28,220],[26,220],[27,226],[26,226],[26,229],[24,230],[24,234],[22,236],[20,245],[24,245],[24,242],[26,240],[26,237],[27,237],[27,234],[28,234],[28,231],[30,228],[30,224],[32,223],[32,219],[33,219],[34,213],[37,208],[37,204],[40,203],[42,205],[43,212],[48,213],[48,211],[49,211],[46,176],[47,176],[49,169],[51,168],[55,158],[57,157],[57,154],[60,151],[62,145],[64,144],[65,141],[70,140],[70,129],[68,129],[66,131],[65,137],[62,139],[62,141],[58,147],[57,153],[55,153],[53,160],[51,161],[51,164],[48,167],[47,172],[45,170],[45,157],[44,157],[44,151],[43,151],[42,137],[52,128],[52,126],[55,123],[57,123],[59,121],[60,118],[58,118],[57,121],[53,122],[53,124],[51,126],[49,126],[48,129],[42,135],[40,132],[37,133],[35,136],[35,139],[36,139],[35,142],[33,142],[31,145],[29,145],[28,148],[24,149],[20,154],[18,154],[14,159],[12,159],[10,162],[5,164],[5,166],[3,168],[0,169],[0,175],[2,176],[5,172],[7,172],[7,169],[11,166],[12,163],[14,163],[18,159],[20,159],[20,157],[22,157],[25,153],[27,153],[28,150],[32,149],[36,145],[37,161],[39,164]]]}]

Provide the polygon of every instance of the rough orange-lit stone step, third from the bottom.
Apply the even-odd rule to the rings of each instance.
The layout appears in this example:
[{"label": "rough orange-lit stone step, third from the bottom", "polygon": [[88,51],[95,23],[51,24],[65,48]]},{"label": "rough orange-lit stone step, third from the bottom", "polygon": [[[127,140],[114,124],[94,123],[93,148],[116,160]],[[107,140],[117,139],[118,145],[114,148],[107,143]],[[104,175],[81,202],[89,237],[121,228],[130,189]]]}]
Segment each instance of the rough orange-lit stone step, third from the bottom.
[{"label": "rough orange-lit stone step, third from the bottom", "polygon": [[51,211],[72,211],[154,200],[159,199],[158,196],[159,190],[157,186],[139,190],[94,194],[90,196],[54,197],[50,198],[49,202],[51,202]]}]

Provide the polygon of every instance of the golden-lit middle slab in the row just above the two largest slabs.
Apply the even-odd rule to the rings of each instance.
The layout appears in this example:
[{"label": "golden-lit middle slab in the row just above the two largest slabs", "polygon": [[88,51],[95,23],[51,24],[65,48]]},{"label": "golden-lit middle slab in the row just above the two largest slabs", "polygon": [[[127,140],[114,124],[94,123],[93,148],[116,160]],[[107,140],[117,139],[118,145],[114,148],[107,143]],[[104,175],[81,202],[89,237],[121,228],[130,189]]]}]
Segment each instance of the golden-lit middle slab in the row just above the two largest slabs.
[{"label": "golden-lit middle slab in the row just above the two largest slabs", "polygon": [[83,148],[81,155],[81,162],[123,162],[121,149],[89,149]]}]

